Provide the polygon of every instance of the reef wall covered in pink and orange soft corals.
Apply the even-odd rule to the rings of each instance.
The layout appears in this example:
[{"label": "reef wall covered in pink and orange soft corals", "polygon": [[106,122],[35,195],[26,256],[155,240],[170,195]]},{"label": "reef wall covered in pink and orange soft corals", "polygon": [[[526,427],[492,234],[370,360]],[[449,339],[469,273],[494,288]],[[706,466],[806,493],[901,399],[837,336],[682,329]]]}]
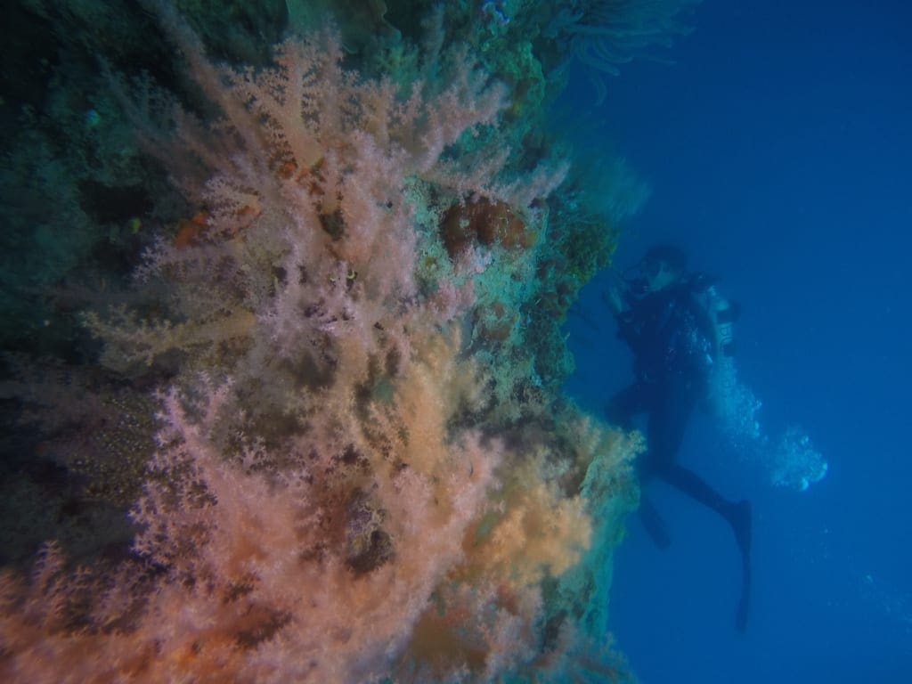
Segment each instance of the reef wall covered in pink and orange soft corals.
[{"label": "reef wall covered in pink and orange soft corals", "polygon": [[561,396],[559,326],[643,193],[581,206],[554,17],[128,5],[17,10],[84,33],[5,140],[62,194],[10,215],[23,254],[59,242],[5,268],[42,317],[5,316],[47,332],[5,332],[4,526],[58,515],[4,549],[4,679],[627,679],[639,443]]}]

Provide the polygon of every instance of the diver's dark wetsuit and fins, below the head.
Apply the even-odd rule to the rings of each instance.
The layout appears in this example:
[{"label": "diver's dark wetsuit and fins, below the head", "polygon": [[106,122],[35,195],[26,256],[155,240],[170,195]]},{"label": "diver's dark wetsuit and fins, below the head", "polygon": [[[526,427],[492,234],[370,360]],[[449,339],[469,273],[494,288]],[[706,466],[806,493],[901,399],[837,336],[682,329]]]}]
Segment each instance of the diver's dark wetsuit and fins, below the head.
[{"label": "diver's dark wetsuit and fins, below the head", "polygon": [[[607,406],[608,419],[628,430],[634,416],[648,414],[648,450],[637,460],[642,485],[658,478],[719,513],[731,524],[744,569],[736,625],[747,623],[750,590],[751,508],[721,496],[695,472],[677,462],[688,421],[705,398],[713,364],[711,323],[695,296],[709,285],[705,278],[683,278],[658,292],[627,297],[627,310],[617,316],[618,337],[634,353],[636,382]],[[640,516],[660,547],[670,543],[652,503],[641,497]]]}]

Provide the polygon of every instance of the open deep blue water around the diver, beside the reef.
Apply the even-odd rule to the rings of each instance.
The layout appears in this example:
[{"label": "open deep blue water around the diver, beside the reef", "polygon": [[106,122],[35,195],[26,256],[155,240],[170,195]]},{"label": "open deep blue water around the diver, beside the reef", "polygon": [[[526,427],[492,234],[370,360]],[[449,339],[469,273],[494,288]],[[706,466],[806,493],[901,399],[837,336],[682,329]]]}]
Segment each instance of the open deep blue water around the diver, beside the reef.
[{"label": "open deep blue water around the diver, beside the reef", "polygon": [[[617,254],[671,241],[741,302],[741,376],[775,434],[802,425],[830,472],[773,489],[695,421],[681,461],[749,497],[754,587],[725,523],[653,485],[674,543],[636,517],[617,554],[612,628],[645,684],[912,681],[912,4],[705,0],[696,31],[608,81],[606,150],[653,195]],[[593,92],[571,90],[581,107]],[[629,380],[598,294],[568,327],[570,389],[599,409]],[[586,378],[585,380],[583,378]]]}]

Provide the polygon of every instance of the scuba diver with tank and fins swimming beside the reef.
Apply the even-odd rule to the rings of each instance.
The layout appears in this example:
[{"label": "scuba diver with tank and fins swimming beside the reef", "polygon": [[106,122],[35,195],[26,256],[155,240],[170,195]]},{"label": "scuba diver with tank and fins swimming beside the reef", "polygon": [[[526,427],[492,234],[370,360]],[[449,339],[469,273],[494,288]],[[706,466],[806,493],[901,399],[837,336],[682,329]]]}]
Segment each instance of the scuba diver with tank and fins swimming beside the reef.
[{"label": "scuba diver with tank and fins swimming beside the reef", "polygon": [[[671,245],[650,248],[604,297],[617,336],[633,352],[636,377],[608,403],[608,420],[631,430],[635,416],[648,415],[647,451],[637,460],[644,492],[651,480],[663,480],[731,524],[743,569],[735,627],[743,632],[751,588],[751,503],[729,501],[677,462],[690,416],[709,397],[714,365],[731,356],[737,307],[716,294],[710,277],[689,273],[687,255]],[[667,547],[665,523],[645,493],[639,513],[653,541]]]}]

